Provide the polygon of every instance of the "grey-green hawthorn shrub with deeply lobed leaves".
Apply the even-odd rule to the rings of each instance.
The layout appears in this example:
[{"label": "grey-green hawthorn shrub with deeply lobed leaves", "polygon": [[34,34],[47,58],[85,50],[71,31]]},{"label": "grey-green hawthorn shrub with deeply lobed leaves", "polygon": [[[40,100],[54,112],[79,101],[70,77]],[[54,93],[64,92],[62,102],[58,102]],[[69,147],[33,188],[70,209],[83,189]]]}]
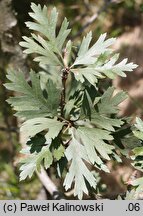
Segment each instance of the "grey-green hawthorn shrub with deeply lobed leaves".
[{"label": "grey-green hawthorn shrub with deeply lobed leaves", "polygon": [[[8,71],[10,82],[5,84],[7,89],[18,92],[8,103],[23,120],[21,131],[27,138],[27,148],[21,151],[27,157],[21,161],[20,180],[40,172],[41,166],[48,169],[54,165],[65,190],[74,188],[74,195],[82,199],[89,190],[96,191],[95,169],[91,171],[91,165],[110,172],[107,161],[120,163],[122,157],[127,157],[136,169],[143,169],[141,119],[137,118],[132,132],[128,119],[117,115],[118,105],[127,94],[120,91],[113,95],[114,87],[101,91],[100,86],[107,77],[126,77],[125,72],[133,71],[137,65],[127,63],[128,59],[118,61],[119,54],[111,49],[115,38],[106,39],[102,34],[90,45],[89,32],[78,49],[67,41],[71,30],[66,18],[57,31],[56,8],[47,14],[46,6],[32,3],[31,9],[29,15],[34,21],[26,25],[33,33],[23,37],[20,45],[24,53],[34,54],[40,71],[30,71],[30,82],[21,71]],[[127,148],[122,140],[131,136],[138,139]],[[140,191],[143,179],[131,184],[135,192]]]}]

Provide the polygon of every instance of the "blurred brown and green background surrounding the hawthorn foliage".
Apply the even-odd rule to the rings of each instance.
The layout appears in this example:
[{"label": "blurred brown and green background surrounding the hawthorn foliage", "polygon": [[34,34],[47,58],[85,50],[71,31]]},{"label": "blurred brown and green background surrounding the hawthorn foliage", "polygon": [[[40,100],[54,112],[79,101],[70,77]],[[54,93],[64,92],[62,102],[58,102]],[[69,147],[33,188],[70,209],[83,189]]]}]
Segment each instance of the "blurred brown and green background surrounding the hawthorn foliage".
[{"label": "blurred brown and green background surrounding the hawthorn foliage", "polygon": [[[127,74],[127,78],[116,78],[114,85],[129,93],[120,106],[120,115],[142,117],[143,114],[143,0],[0,0],[0,199],[51,199],[46,189],[35,175],[31,179],[19,182],[19,150],[22,138],[19,134],[19,120],[13,116],[6,99],[14,94],[8,92],[6,71],[13,67],[21,69],[28,76],[29,68],[37,69],[32,58],[22,53],[19,42],[22,35],[29,35],[24,22],[30,19],[31,2],[46,4],[50,10],[56,6],[59,11],[59,24],[64,16],[70,21],[72,32],[70,38],[79,44],[85,33],[93,31],[93,41],[101,33],[108,37],[117,37],[114,45],[120,51],[121,58],[139,67]],[[104,83],[105,85],[105,83]],[[100,192],[108,197],[122,194],[126,190],[126,181],[133,172],[127,160],[122,164],[110,162],[110,174],[97,174]],[[56,179],[54,170],[49,175],[61,192],[61,182]],[[66,194],[72,197],[72,191]]]}]

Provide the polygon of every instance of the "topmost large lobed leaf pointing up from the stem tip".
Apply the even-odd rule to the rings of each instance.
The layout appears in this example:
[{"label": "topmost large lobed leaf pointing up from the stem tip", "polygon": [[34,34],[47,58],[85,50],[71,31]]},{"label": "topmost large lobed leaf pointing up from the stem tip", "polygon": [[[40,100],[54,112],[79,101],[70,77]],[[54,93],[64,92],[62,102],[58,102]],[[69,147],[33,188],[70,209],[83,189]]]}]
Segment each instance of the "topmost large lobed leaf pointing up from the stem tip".
[{"label": "topmost large lobed leaf pointing up from the stem tip", "polygon": [[39,56],[35,58],[35,61],[38,61],[42,64],[57,66],[62,65],[62,61],[58,59],[56,54],[60,58],[62,57],[63,44],[70,33],[67,19],[64,19],[61,28],[56,35],[56,26],[58,20],[56,8],[53,8],[49,17],[46,6],[42,8],[40,5],[32,3],[31,9],[33,12],[29,13],[29,15],[36,22],[26,22],[26,25],[30,30],[37,31],[38,34],[42,33],[43,36],[31,34],[32,38],[23,37],[24,42],[21,42],[20,45],[26,48],[24,52],[28,54],[39,54]]}]

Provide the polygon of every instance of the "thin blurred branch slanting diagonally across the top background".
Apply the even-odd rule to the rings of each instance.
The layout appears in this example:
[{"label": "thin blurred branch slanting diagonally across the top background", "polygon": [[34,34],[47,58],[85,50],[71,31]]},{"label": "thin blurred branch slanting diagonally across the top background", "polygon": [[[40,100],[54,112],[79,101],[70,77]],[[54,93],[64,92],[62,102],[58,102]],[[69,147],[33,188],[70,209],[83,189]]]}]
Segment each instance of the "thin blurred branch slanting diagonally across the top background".
[{"label": "thin blurred branch slanting diagonally across the top background", "polygon": [[74,40],[75,38],[79,37],[81,35],[81,33],[88,27],[90,26],[92,23],[94,23],[94,21],[98,18],[98,16],[102,13],[105,12],[109,5],[111,4],[112,1],[109,0],[104,0],[104,4],[103,6],[98,10],[98,12],[96,14],[93,14],[88,22],[77,32],[77,34],[75,34],[74,36],[71,37],[72,40]]}]

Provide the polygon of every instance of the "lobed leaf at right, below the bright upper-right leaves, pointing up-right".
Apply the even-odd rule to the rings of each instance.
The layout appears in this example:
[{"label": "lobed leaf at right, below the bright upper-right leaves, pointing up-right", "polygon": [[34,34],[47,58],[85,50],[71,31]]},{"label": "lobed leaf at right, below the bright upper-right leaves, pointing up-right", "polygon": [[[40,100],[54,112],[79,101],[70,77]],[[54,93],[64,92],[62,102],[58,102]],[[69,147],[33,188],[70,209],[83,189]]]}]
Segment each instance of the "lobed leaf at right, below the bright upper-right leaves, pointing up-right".
[{"label": "lobed leaf at right, below the bright upper-right leaves, pointing up-right", "polygon": [[111,118],[110,115],[118,113],[118,105],[126,99],[126,93],[121,91],[113,96],[113,92],[114,87],[108,88],[95,107],[92,107],[91,113],[91,123],[108,131],[115,131],[114,127],[123,124],[121,119]]}]

